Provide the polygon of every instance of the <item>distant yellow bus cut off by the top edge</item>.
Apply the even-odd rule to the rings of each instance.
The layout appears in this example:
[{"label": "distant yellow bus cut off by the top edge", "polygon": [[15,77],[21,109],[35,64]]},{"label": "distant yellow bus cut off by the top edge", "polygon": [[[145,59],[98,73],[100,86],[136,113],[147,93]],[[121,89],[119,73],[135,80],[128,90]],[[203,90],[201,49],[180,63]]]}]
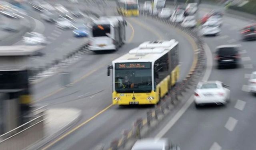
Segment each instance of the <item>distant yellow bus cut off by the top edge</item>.
[{"label": "distant yellow bus cut off by the top edge", "polygon": [[122,16],[139,16],[138,0],[118,0],[116,2],[117,12]]}]

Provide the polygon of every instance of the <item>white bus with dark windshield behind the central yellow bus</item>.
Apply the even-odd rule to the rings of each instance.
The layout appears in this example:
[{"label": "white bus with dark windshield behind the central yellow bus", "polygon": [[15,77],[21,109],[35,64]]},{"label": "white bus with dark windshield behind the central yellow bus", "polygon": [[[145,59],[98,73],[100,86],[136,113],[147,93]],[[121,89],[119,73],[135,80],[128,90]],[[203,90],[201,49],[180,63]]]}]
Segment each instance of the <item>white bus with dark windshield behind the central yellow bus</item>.
[{"label": "white bus with dark windshield behind the central yellow bus", "polygon": [[125,42],[126,21],[120,16],[102,17],[92,23],[91,51],[118,50]]}]

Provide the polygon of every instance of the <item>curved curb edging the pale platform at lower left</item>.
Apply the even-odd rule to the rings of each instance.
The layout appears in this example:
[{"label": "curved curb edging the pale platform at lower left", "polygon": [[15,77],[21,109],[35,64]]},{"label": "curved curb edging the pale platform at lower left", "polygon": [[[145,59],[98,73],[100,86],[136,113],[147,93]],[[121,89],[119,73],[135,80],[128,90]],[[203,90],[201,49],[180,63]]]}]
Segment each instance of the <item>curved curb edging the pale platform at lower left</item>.
[{"label": "curved curb edging the pale platform at lower left", "polygon": [[76,118],[74,118],[72,121],[70,121],[70,123],[68,123],[66,126],[61,128],[60,130],[58,130],[56,133],[52,134],[51,136],[43,137],[38,142],[35,142],[34,144],[28,146],[28,148],[25,148],[25,150],[39,150],[46,144],[50,143],[53,139],[57,138],[58,136],[60,136],[64,132],[66,132],[68,129],[72,128],[82,118],[81,110],[79,110],[79,111],[80,111],[79,115]]}]

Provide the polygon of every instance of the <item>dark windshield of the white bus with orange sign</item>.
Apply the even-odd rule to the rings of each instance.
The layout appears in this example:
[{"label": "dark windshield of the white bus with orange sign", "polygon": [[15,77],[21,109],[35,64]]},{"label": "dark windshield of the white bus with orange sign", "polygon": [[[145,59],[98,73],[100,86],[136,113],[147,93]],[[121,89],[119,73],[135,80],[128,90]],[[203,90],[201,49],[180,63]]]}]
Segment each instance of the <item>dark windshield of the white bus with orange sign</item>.
[{"label": "dark windshield of the white bus with orange sign", "polygon": [[92,36],[107,36],[106,33],[110,33],[110,25],[94,25],[92,26]]}]

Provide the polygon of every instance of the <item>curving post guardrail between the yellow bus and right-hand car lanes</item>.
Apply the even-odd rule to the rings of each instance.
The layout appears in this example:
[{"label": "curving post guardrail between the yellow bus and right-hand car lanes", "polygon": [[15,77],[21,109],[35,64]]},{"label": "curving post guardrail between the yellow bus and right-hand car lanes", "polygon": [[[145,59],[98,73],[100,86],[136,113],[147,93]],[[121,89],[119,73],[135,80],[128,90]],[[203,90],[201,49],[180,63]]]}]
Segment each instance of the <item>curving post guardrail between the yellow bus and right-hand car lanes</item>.
[{"label": "curving post guardrail between the yellow bus and right-hand car lanes", "polygon": [[[153,110],[148,110],[146,112],[146,118],[138,118],[134,125],[132,126],[131,130],[124,130],[122,133],[122,137],[119,139],[114,139],[110,143],[110,147],[108,150],[119,150],[125,147],[126,143],[129,140],[133,140],[134,142],[137,139],[142,138],[146,135],[146,133],[151,130],[155,125],[156,122],[162,120],[166,114],[172,111],[172,109],[182,100],[182,96],[188,92],[190,88],[196,85],[197,79],[202,75],[204,71],[204,64],[205,64],[205,52],[204,52],[204,41],[202,37],[198,34],[198,29],[190,29],[190,28],[183,28],[180,24],[175,22],[170,22],[169,19],[158,18],[158,16],[153,16],[152,14],[146,12],[140,12],[142,16],[158,20],[164,24],[172,28],[176,28],[181,30],[185,34],[189,35],[190,38],[196,43],[198,50],[195,52],[196,63],[192,66],[190,72],[180,83],[177,83],[169,93],[166,95],[164,100],[160,102],[158,106],[156,106]],[[100,150],[104,148],[101,147]],[[99,149],[97,149],[99,150]]]}]

